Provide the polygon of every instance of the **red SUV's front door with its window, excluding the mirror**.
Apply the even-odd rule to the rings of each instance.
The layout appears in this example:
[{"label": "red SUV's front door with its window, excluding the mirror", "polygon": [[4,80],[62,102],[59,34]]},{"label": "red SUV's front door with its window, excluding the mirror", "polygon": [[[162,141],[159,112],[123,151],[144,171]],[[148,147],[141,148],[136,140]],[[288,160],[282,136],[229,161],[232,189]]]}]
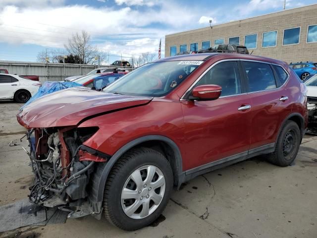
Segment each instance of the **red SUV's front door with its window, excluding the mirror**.
[{"label": "red SUV's front door with its window, excluding the mirror", "polygon": [[247,155],[251,100],[249,95],[242,94],[240,73],[237,61],[217,63],[194,87],[219,85],[222,87],[220,98],[213,101],[181,100],[186,146],[192,148],[188,150],[192,159],[184,164],[185,170],[204,169],[220,159],[229,161]]}]

